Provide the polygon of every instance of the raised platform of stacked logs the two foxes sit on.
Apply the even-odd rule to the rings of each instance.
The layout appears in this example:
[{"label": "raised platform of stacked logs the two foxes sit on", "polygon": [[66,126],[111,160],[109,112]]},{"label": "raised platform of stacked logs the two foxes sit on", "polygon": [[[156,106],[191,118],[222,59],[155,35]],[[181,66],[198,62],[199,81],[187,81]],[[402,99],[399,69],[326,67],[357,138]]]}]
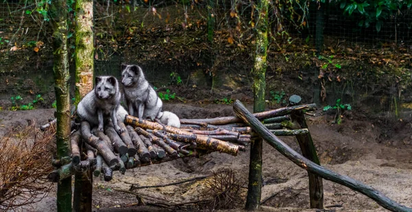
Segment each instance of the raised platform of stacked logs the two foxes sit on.
[{"label": "raised platform of stacked logs the two foxes sit on", "polygon": [[[308,129],[291,129],[289,115],[314,109],[314,104],[299,105],[253,115],[275,135],[300,135]],[[121,134],[111,124],[106,124],[103,132],[82,121],[71,135],[71,157],[54,161],[57,169],[49,174],[49,180],[57,182],[89,169],[94,176],[103,174],[105,181],[111,181],[115,170],[124,174],[127,169],[215,151],[236,156],[256,136],[234,116],[182,119],[181,129],[126,116],[119,126]]]}]

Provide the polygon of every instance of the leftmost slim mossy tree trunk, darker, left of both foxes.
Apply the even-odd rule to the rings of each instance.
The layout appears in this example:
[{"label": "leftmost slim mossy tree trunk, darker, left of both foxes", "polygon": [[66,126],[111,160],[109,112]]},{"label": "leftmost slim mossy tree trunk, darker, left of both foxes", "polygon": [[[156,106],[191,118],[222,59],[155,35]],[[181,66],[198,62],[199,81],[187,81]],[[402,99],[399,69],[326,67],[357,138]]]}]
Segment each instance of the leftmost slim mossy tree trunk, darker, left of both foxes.
[{"label": "leftmost slim mossy tree trunk, darker, left of both foxes", "polygon": [[[56,146],[57,157],[69,157],[70,96],[69,57],[67,53],[67,2],[53,1],[50,8],[53,25],[53,72],[56,92]],[[57,211],[71,211],[71,177],[58,182]]]}]

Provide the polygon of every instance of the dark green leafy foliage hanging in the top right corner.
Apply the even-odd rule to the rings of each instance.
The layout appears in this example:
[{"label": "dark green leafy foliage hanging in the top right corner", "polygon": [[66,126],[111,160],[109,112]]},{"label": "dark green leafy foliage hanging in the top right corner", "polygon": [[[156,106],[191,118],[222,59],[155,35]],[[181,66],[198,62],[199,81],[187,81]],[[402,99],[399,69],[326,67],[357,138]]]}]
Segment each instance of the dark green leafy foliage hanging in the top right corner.
[{"label": "dark green leafy foliage hanging in the top right corner", "polygon": [[[324,1],[324,0],[322,0]],[[340,0],[337,1],[343,13],[358,18],[359,27],[369,27],[375,23],[376,31],[380,31],[383,21],[396,14],[402,8],[412,8],[412,1],[387,1],[387,0]]]}]

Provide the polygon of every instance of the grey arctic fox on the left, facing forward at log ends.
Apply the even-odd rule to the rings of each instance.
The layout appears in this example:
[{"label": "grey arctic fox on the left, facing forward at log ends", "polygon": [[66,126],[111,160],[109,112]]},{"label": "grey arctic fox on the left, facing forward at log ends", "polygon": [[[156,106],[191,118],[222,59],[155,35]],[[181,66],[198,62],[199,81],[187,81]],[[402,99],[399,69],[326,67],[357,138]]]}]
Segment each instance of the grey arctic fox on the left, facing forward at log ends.
[{"label": "grey arctic fox on the left, facing forward at log ends", "polygon": [[99,131],[103,131],[104,122],[111,120],[117,133],[122,133],[117,120],[124,122],[127,111],[120,105],[120,98],[119,83],[115,77],[95,77],[95,88],[82,98],[77,114],[81,120],[98,125]]}]

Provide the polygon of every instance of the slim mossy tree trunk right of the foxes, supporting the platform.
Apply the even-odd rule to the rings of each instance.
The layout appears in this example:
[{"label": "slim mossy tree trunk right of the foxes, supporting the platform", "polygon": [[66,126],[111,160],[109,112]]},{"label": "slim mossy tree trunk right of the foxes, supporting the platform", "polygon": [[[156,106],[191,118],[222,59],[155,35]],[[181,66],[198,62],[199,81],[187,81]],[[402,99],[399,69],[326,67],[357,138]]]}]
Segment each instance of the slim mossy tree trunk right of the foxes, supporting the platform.
[{"label": "slim mossy tree trunk right of the foxes, supporting the platform", "polygon": [[[264,111],[266,89],[266,51],[268,48],[268,0],[258,1],[258,22],[255,28],[256,51],[253,64],[253,112]],[[249,163],[249,184],[246,209],[254,211],[259,208],[262,193],[262,138],[251,142]]]}]

